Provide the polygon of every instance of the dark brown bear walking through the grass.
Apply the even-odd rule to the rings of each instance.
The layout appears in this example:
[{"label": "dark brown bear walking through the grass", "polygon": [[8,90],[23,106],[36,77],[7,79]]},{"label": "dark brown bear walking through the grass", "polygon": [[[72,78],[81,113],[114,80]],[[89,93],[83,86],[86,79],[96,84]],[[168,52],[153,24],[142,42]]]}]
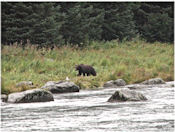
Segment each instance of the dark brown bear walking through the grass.
[{"label": "dark brown bear walking through the grass", "polygon": [[96,71],[94,70],[92,66],[80,64],[80,65],[76,65],[75,69],[76,71],[78,71],[77,76],[81,76],[82,73],[83,73],[83,76],[85,76],[86,74],[87,76],[89,75],[96,76]]}]

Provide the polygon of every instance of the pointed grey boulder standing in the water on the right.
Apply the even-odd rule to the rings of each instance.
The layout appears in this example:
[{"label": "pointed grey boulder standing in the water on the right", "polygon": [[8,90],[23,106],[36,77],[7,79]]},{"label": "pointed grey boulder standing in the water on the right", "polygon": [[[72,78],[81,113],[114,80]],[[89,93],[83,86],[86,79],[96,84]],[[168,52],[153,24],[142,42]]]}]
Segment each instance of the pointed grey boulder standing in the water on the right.
[{"label": "pointed grey boulder standing in the water on the right", "polygon": [[108,102],[121,102],[121,101],[141,101],[147,98],[136,91],[129,89],[117,90],[109,99]]}]

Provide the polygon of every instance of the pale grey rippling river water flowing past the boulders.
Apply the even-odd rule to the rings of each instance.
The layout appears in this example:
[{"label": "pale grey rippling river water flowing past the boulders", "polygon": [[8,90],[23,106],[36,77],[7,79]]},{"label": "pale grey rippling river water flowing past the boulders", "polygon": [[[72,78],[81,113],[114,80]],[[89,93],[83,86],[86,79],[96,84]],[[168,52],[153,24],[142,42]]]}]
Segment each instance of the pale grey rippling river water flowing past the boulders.
[{"label": "pale grey rippling river water flowing past the boulders", "polygon": [[173,132],[174,82],[134,89],[148,101],[109,103],[116,88],[54,94],[54,101],[1,102],[2,132]]}]

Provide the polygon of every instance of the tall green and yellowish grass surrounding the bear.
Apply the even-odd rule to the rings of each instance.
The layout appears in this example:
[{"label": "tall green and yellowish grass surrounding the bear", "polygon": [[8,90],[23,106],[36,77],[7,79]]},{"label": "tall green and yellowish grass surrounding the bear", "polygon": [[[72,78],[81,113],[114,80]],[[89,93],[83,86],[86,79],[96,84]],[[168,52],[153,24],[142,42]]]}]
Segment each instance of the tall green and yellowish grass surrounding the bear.
[{"label": "tall green and yellowish grass surrounding the bear", "polygon": [[[91,42],[85,48],[64,46],[37,50],[35,46],[23,48],[3,46],[2,93],[23,91],[15,85],[20,81],[32,81],[35,87],[47,81],[65,80],[69,77],[82,89],[103,86],[108,80],[122,78],[127,84],[161,77],[174,80],[174,49],[172,44],[130,42]],[[97,76],[77,77],[76,64],[92,65]]]}]

